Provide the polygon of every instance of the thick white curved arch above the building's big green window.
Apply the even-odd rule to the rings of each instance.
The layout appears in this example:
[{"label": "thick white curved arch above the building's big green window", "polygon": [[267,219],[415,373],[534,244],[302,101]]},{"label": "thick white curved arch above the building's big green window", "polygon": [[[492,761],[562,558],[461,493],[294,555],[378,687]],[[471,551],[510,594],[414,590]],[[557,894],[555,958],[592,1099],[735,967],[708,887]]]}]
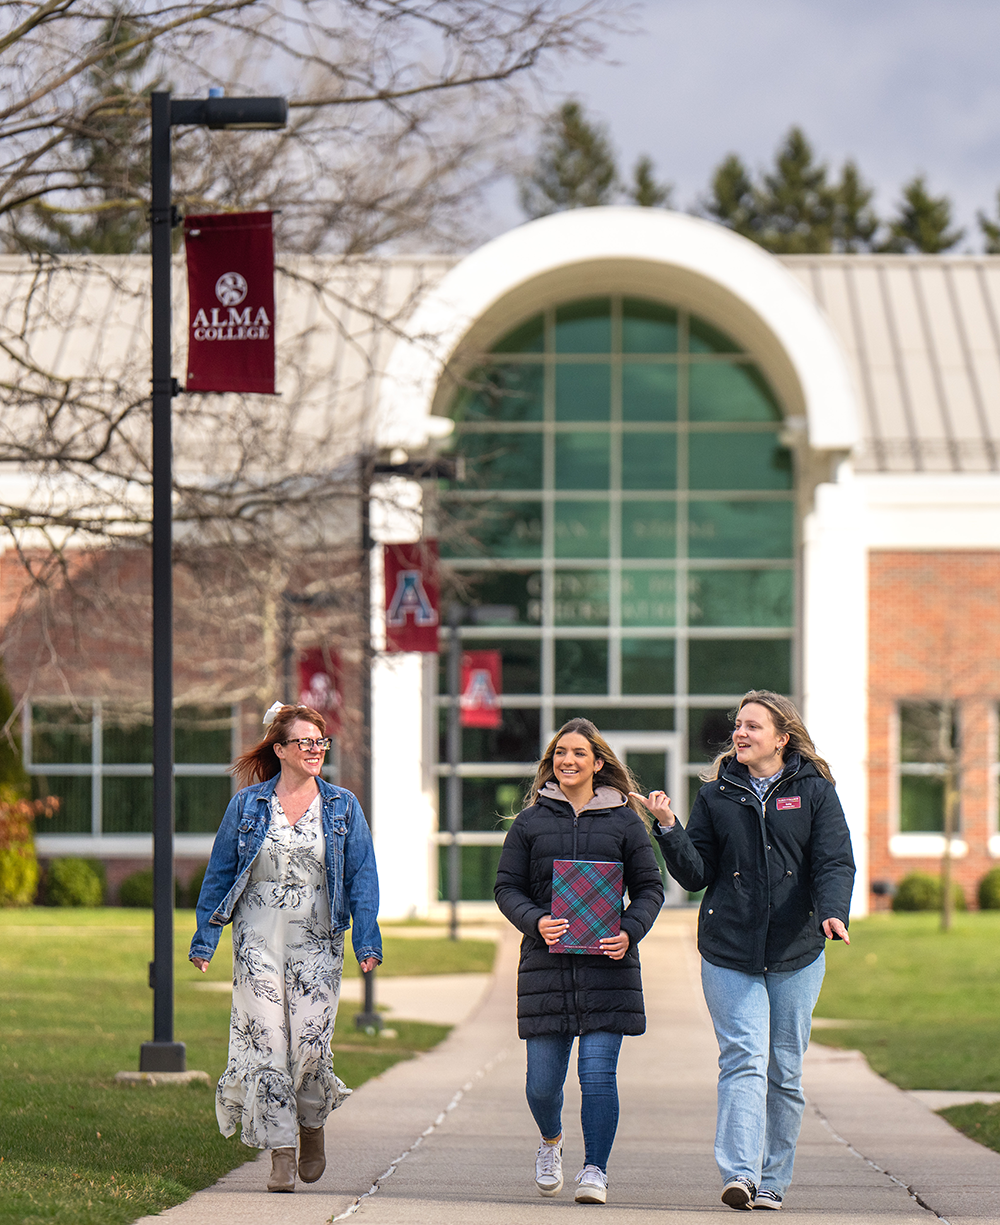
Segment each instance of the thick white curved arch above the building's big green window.
[{"label": "thick white curved arch above the building's big green window", "polygon": [[450,398],[442,372],[555,301],[629,293],[707,317],[752,354],[810,446],[850,450],[850,374],[815,300],[773,256],[722,225],[659,208],[580,208],[528,222],[461,260],[415,310],[380,394],[386,442],[418,442]]}]

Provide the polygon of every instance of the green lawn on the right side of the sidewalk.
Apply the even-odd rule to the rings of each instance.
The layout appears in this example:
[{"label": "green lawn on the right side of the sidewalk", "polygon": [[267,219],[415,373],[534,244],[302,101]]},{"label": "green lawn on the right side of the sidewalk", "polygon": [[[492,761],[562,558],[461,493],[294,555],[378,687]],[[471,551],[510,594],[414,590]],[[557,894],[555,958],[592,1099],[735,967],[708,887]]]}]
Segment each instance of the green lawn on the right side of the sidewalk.
[{"label": "green lawn on the right side of the sidewalk", "polygon": [[[850,925],[850,947],[826,946],[817,1017],[864,1022],[815,1040],[864,1052],[902,1089],[1000,1090],[1000,913],[885,914]],[[1000,1152],[1000,1109],[941,1112]]]}]

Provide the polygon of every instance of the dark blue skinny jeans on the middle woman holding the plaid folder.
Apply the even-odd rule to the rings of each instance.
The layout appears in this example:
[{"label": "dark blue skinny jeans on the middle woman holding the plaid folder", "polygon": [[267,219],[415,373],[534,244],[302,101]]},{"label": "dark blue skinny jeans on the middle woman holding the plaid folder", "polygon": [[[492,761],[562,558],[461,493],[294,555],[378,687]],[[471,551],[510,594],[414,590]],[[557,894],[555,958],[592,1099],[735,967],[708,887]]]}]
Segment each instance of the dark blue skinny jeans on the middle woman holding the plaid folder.
[{"label": "dark blue skinny jeans on the middle woman holding the plaid folder", "polygon": [[[528,1106],[545,1139],[562,1134],[562,1085],[570,1066],[572,1034],[528,1038]],[[583,1126],[583,1164],[608,1172],[608,1158],[618,1131],[618,1052],[621,1034],[598,1029],[580,1035],[576,1071],[580,1077],[580,1122]]]}]

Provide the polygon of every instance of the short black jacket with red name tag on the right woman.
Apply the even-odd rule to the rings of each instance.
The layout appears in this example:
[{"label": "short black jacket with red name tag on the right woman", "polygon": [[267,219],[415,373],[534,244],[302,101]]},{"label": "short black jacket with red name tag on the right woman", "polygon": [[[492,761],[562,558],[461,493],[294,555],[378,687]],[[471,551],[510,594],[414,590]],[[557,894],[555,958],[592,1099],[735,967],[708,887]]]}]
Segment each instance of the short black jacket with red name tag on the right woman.
[{"label": "short black jacket with red name tag on the right woman", "polygon": [[653,827],[667,869],[705,889],[699,949],[744,974],[800,970],[822,952],[821,924],[850,909],[854,858],[833,784],[799,758],[757,799],[734,761],[699,791],[685,829]]}]

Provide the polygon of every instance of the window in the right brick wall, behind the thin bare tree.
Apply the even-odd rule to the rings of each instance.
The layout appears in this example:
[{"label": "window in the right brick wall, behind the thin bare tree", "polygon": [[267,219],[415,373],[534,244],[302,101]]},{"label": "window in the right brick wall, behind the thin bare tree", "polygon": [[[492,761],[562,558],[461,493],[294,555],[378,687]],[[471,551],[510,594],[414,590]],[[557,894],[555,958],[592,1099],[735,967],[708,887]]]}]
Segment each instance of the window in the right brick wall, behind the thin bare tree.
[{"label": "window in the right brick wall, behind the thin bare tree", "polygon": [[[957,764],[952,702],[900,703],[900,833],[944,833],[949,762]],[[958,832],[958,823],[956,829]]]}]

